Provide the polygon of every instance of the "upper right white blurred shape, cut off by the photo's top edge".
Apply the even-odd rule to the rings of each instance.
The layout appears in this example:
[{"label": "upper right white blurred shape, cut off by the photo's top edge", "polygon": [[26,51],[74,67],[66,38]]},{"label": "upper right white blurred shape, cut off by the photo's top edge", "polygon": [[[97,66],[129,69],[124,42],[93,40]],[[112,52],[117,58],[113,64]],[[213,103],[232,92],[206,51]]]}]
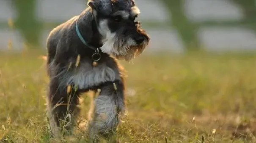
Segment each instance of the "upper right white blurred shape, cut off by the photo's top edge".
[{"label": "upper right white blurred shape, cut off by the photo's top edge", "polygon": [[243,11],[230,0],[185,0],[184,12],[192,21],[240,20]]}]

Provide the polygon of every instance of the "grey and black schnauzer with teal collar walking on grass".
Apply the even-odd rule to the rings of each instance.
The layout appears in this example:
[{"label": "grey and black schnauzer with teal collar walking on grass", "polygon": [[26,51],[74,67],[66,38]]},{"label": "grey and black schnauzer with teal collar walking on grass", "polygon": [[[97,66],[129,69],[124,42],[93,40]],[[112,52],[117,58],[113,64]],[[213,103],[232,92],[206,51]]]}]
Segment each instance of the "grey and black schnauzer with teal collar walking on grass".
[{"label": "grey and black schnauzer with teal collar walking on grass", "polygon": [[96,143],[113,136],[126,111],[126,74],[118,60],[140,55],[150,38],[136,21],[140,10],[134,0],[88,0],[87,5],[47,37],[47,117],[54,137],[71,135],[80,95],[100,89],[86,126]]}]

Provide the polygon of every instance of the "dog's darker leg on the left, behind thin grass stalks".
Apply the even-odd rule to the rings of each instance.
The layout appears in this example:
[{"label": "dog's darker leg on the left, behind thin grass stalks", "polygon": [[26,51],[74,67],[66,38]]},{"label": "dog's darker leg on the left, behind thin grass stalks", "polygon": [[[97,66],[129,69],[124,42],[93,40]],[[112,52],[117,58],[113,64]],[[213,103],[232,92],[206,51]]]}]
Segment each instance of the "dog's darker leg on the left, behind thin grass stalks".
[{"label": "dog's darker leg on the left, behind thin grass stalks", "polygon": [[74,87],[60,87],[57,79],[51,79],[48,94],[48,117],[50,130],[55,137],[72,133],[80,109],[79,93]]}]

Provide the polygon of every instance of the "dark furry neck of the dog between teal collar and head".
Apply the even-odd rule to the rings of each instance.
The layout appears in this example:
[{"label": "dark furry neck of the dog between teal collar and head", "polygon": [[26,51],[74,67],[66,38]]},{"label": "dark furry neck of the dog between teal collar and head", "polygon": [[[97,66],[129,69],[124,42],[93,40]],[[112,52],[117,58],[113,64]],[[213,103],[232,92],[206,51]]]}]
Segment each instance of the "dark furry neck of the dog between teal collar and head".
[{"label": "dark furry neck of the dog between teal collar and head", "polygon": [[87,45],[94,48],[102,47],[101,34],[99,34],[97,29],[91,8],[85,9],[85,11],[78,16],[77,26]]}]

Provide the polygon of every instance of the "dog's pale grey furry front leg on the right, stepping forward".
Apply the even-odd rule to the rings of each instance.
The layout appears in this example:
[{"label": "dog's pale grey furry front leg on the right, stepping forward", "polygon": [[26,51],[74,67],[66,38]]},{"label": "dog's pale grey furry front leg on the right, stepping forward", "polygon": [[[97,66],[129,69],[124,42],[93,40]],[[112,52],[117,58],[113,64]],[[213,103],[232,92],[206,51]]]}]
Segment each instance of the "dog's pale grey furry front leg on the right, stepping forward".
[{"label": "dog's pale grey furry front leg on the right, stepping forward", "polygon": [[98,97],[94,99],[93,117],[88,124],[91,143],[99,142],[100,136],[113,138],[119,123],[118,114],[125,108],[122,82],[106,82],[100,89]]}]

